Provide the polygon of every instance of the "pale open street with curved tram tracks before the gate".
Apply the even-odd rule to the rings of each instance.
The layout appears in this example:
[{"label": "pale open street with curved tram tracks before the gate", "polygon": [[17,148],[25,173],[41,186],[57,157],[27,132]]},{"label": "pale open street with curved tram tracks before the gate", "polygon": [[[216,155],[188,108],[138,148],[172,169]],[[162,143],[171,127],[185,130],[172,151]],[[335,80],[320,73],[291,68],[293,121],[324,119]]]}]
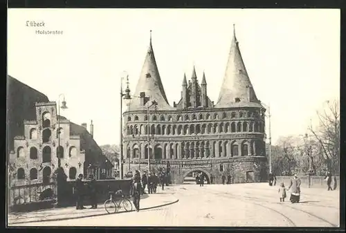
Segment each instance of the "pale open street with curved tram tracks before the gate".
[{"label": "pale open street with curved tram tracks before the gate", "polygon": [[291,204],[289,201],[280,203],[278,188],[269,187],[266,183],[204,187],[176,185],[167,187],[165,191],[167,195],[179,198],[179,202],[173,205],[25,225],[338,227],[338,191],[302,189],[301,203]]}]

